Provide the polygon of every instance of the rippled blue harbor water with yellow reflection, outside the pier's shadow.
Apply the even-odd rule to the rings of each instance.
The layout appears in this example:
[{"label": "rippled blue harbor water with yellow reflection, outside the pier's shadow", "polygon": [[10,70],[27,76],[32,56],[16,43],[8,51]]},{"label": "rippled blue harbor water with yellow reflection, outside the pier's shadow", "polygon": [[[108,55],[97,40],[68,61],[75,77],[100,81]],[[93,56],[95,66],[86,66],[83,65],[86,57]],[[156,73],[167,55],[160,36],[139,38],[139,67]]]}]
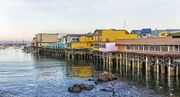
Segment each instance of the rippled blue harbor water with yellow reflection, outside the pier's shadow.
[{"label": "rippled blue harbor water with yellow reflection, outside the pier's shadow", "polygon": [[[96,64],[83,60],[35,56],[12,47],[1,49],[0,97],[159,97],[167,92],[156,92],[154,87],[141,86],[147,82],[143,81],[143,78],[134,79],[137,77],[131,74],[119,75],[120,80],[98,85],[95,85],[94,81],[88,81],[101,71]],[[68,87],[76,83],[91,84],[95,88],[91,91],[83,90],[81,93],[68,92]],[[103,89],[112,89],[113,92],[102,91]],[[172,92],[167,95],[175,94]]]}]

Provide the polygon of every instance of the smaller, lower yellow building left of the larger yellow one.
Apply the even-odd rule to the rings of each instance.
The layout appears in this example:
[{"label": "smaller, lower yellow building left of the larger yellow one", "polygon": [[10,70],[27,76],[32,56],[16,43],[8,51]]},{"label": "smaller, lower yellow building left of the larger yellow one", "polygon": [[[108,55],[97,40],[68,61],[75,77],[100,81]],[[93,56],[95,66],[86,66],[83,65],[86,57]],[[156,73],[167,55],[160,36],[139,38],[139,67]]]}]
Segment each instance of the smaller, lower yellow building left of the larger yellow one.
[{"label": "smaller, lower yellow building left of the larger yellow one", "polygon": [[72,42],[71,48],[91,48],[92,36],[91,35],[84,35],[79,37],[78,42]]}]

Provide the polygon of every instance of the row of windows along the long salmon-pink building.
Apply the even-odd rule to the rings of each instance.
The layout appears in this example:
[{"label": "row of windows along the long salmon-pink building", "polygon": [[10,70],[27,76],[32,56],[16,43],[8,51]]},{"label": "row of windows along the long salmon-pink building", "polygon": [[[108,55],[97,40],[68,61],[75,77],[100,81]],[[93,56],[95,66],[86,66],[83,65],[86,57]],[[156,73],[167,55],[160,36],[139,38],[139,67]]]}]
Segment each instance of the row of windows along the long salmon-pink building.
[{"label": "row of windows along the long salmon-pink building", "polygon": [[150,51],[180,51],[180,45],[128,45],[127,49]]}]

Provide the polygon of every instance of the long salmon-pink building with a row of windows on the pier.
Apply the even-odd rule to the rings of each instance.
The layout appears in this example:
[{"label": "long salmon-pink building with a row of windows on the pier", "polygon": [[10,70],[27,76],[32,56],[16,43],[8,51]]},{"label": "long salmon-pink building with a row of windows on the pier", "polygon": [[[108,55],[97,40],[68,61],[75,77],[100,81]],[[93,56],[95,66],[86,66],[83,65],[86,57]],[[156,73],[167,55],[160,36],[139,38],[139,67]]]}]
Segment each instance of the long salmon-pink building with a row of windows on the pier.
[{"label": "long salmon-pink building with a row of windows on the pier", "polygon": [[118,51],[149,54],[180,54],[180,38],[161,37],[116,40]]}]

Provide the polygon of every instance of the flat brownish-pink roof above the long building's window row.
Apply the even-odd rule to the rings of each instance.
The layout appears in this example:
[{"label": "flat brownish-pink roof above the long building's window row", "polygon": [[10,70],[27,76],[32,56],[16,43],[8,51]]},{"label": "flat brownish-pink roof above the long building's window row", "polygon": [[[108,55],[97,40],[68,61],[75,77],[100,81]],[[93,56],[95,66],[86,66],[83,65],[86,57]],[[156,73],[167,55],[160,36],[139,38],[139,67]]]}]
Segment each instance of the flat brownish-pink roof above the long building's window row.
[{"label": "flat brownish-pink roof above the long building's window row", "polygon": [[158,37],[140,39],[118,39],[117,45],[180,45],[180,38]]}]

